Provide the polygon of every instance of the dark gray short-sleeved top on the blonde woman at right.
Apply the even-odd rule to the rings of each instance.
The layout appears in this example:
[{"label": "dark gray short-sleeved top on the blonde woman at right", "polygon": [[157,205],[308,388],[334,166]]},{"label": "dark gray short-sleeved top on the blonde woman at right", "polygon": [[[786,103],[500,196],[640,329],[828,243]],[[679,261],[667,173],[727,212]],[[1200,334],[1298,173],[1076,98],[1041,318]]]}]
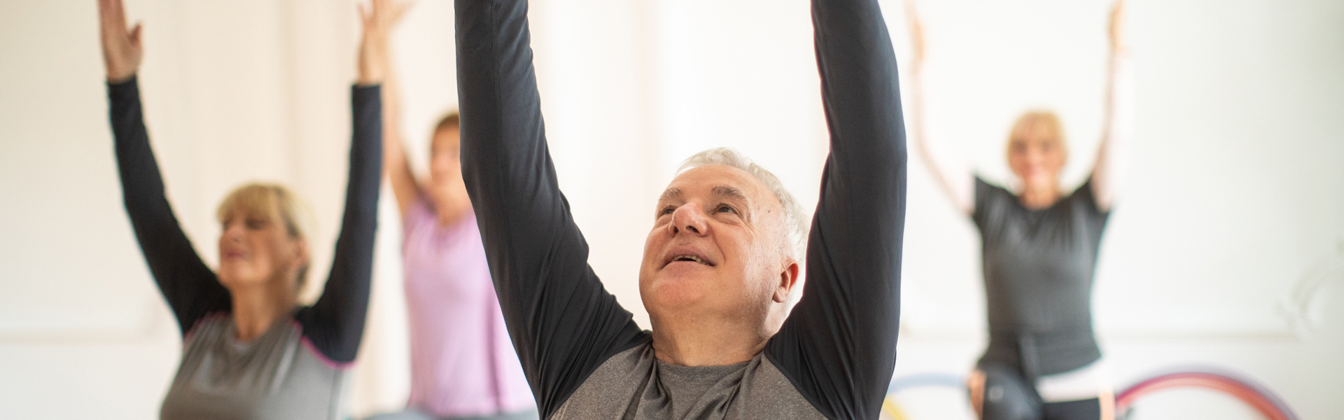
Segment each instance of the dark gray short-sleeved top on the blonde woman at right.
[{"label": "dark gray short-sleeved top on the blonde woman at right", "polygon": [[976,178],[972,218],[982,241],[989,316],[981,363],[1007,363],[1036,378],[1101,358],[1091,287],[1106,217],[1091,180],[1047,209],[1030,210]]}]

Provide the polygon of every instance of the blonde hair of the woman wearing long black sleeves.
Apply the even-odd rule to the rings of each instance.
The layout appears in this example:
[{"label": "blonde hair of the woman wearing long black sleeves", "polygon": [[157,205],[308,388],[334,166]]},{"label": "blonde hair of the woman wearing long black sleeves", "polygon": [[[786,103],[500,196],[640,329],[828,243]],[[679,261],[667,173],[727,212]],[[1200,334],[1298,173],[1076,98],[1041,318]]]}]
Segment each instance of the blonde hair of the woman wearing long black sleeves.
[{"label": "blonde hair of the woman wearing long black sleeves", "polygon": [[[285,222],[285,232],[289,233],[290,238],[306,240],[308,234],[314,229],[314,217],[312,206],[308,205],[301,197],[290,193],[280,184],[269,183],[249,183],[224,197],[224,201],[219,203],[219,209],[215,211],[215,218],[223,223],[234,215],[235,211],[242,211],[243,214],[265,214],[266,217],[278,218]],[[310,261],[304,261],[304,265],[298,268],[298,288],[304,287],[308,280],[308,265]]]}]

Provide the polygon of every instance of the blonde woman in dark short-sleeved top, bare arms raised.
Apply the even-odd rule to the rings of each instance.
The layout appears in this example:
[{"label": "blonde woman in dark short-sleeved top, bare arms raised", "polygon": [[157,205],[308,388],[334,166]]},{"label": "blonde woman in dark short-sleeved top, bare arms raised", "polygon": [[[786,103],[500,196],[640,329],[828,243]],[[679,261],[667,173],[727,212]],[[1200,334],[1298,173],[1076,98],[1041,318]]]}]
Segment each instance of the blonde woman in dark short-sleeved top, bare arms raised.
[{"label": "blonde woman in dark short-sleeved top, bare arms raised", "polygon": [[970,376],[970,400],[985,420],[1110,419],[1113,390],[1091,327],[1091,285],[1101,236],[1116,202],[1129,128],[1129,55],[1124,1],[1110,18],[1106,123],[1091,176],[1062,191],[1067,143],[1048,110],[1024,113],[1008,133],[1012,190],[982,180],[939,153],[925,135],[923,28],[910,3],[915,42],[914,139],[943,193],[980,229],[989,347]]}]

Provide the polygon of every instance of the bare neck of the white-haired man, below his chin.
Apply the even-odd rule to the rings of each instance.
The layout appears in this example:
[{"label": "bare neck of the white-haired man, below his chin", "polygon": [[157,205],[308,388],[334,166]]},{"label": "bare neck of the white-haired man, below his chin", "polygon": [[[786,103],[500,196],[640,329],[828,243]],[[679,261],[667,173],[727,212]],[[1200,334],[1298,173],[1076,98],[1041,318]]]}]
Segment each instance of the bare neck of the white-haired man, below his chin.
[{"label": "bare neck of the white-haired man, below his chin", "polygon": [[723,366],[750,361],[774,331],[716,319],[653,320],[653,355],[679,366]]}]

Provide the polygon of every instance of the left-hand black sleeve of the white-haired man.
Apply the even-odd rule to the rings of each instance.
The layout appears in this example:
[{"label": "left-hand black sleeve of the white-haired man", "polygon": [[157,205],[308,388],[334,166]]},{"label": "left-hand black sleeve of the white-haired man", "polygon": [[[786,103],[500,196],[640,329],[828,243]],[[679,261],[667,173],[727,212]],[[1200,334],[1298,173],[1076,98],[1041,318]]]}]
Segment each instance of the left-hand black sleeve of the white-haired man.
[{"label": "left-hand black sleeve of the white-haired man", "polygon": [[587,265],[546,145],[526,0],[458,0],[462,178],[542,419],[613,354],[648,341]]}]

